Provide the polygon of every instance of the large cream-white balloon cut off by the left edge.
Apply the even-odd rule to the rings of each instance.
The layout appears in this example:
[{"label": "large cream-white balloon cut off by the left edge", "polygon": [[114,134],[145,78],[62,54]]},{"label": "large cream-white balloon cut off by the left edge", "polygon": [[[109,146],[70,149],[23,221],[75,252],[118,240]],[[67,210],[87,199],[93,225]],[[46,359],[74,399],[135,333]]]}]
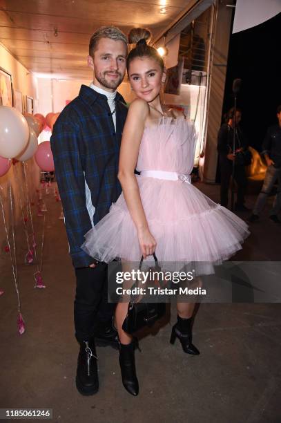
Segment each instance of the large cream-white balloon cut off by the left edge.
[{"label": "large cream-white balloon cut off by the left edge", "polygon": [[28,122],[16,109],[0,106],[0,156],[14,158],[26,148]]}]

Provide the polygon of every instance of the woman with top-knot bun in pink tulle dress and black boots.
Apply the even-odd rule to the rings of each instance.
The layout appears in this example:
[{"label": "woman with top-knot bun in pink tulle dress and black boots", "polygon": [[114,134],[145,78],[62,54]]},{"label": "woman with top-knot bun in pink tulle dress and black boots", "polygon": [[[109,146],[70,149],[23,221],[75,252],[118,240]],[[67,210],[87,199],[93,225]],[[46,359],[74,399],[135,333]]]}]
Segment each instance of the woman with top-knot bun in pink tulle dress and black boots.
[{"label": "woman with top-knot bun in pink tulle dress and black boots", "polygon": [[[118,178],[123,193],[86,234],[82,248],[106,263],[115,258],[139,261],[154,252],[162,263],[221,263],[241,248],[249,232],[240,218],[191,185],[195,131],[182,112],[164,108],[160,97],[166,77],[164,62],[146,44],[150,37],[142,28],[129,35],[130,44],[136,46],[128,55],[127,71],[137,98],[130,104],[122,136]],[[200,267],[197,270],[197,274],[204,273]],[[197,355],[191,342],[194,306],[177,303],[171,342],[177,337],[185,353]],[[134,341],[122,329],[127,310],[128,303],[117,304],[119,363],[125,388],[137,395]]]}]

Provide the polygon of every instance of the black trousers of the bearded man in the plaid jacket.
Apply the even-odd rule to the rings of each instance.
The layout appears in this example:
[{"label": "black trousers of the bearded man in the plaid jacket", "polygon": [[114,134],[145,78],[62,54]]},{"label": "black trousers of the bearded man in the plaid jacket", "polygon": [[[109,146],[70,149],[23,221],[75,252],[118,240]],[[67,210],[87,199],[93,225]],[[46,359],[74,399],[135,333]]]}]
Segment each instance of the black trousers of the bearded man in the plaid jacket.
[{"label": "black trousers of the bearded man in the plaid jacket", "polygon": [[112,319],[115,303],[108,303],[107,265],[75,269],[76,296],[74,302],[75,336],[86,341],[95,335],[99,322]]}]

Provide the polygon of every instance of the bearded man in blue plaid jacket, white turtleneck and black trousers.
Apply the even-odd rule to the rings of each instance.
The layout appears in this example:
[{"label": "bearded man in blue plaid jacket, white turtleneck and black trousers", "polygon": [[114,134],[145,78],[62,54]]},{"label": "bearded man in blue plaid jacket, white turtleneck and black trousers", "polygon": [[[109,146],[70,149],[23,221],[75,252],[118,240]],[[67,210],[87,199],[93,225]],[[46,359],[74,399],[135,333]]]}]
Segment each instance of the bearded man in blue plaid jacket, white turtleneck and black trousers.
[{"label": "bearded man in blue plaid jacket, white turtleneck and black trousers", "polygon": [[61,112],[51,137],[70,255],[75,267],[75,336],[80,344],[76,386],[82,395],[99,389],[95,344],[117,347],[113,304],[107,302],[107,266],[81,250],[84,234],[121,194],[119,147],[127,109],[116,88],[128,53],[126,36],[101,27],[90,39],[88,66],[93,83]]}]

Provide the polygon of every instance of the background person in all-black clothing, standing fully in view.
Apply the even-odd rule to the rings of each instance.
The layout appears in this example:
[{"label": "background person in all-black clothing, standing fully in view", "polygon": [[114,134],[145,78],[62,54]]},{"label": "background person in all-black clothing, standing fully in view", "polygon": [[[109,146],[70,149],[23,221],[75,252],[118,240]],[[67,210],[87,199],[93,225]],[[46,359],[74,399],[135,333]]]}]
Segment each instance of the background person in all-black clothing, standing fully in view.
[{"label": "background person in all-black clothing, standing fully in view", "polygon": [[[235,120],[235,143],[236,148],[233,153],[233,126]],[[226,114],[226,123],[222,124],[217,135],[217,151],[220,156],[220,204],[227,207],[229,204],[229,181],[232,175],[233,160],[235,160],[234,179],[237,183],[237,201],[235,210],[244,212],[248,210],[244,205],[244,194],[246,190],[246,173],[244,164],[237,160],[237,153],[248,149],[248,142],[240,128],[241,110],[230,109]]]}]

